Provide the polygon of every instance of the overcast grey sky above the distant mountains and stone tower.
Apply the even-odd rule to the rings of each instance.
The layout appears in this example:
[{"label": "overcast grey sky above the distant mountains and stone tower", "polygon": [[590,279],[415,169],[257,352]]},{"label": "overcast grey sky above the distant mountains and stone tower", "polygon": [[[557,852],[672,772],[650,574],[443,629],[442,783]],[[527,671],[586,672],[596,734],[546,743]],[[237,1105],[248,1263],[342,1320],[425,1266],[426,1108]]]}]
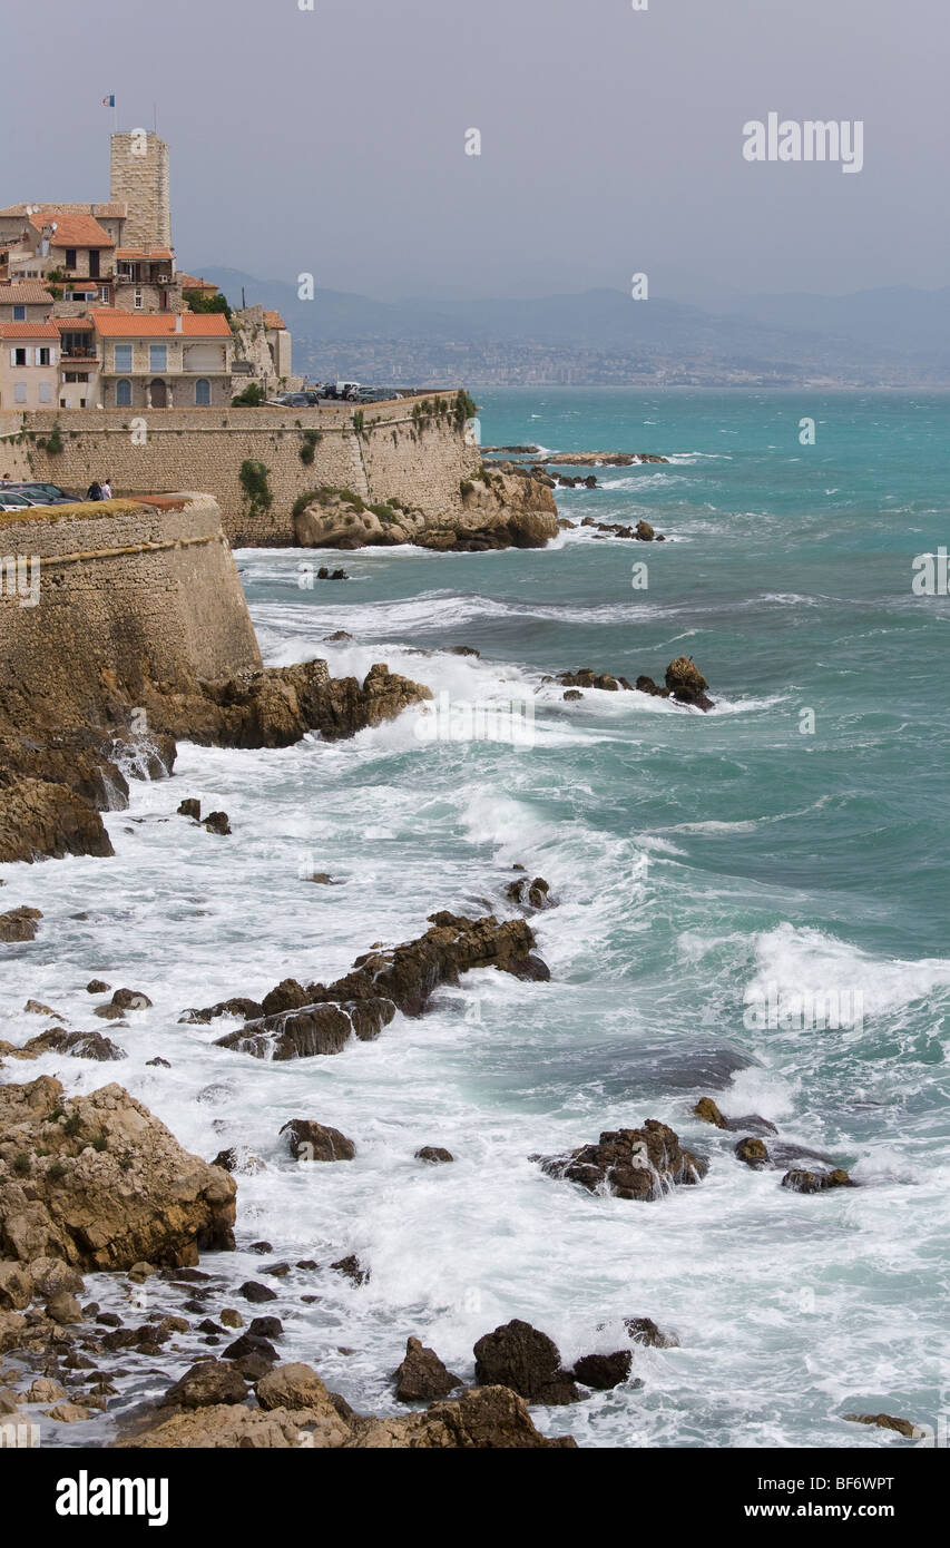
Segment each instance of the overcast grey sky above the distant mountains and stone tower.
[{"label": "overcast grey sky above the distant mountains and stone tower", "polygon": [[[947,0],[5,5],[0,203],[105,198],[172,149],[179,266],[381,299],[947,283]],[[749,164],[743,124],[863,119],[865,167]],[[467,128],[481,156],[464,153]]]}]

